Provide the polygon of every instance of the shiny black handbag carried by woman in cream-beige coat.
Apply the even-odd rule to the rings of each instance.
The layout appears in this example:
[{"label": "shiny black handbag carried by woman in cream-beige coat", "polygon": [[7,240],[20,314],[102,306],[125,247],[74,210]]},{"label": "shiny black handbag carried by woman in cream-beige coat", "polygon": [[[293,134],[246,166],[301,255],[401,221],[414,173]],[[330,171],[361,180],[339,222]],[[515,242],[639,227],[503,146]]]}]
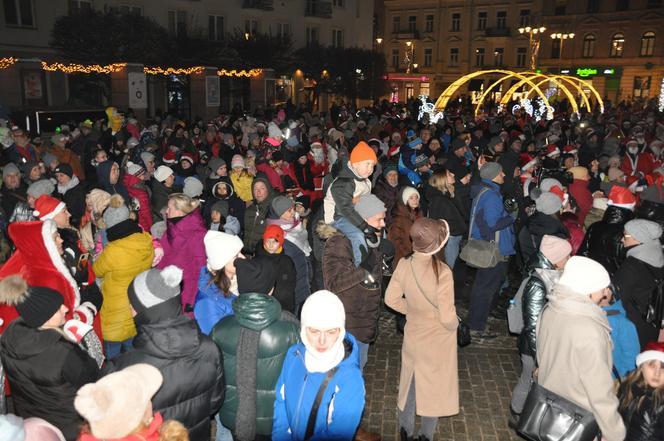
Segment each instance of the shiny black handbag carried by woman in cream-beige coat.
[{"label": "shiny black handbag carried by woman in cream-beige coat", "polygon": [[592,412],[533,382],[516,427],[531,441],[593,441],[600,439]]}]

